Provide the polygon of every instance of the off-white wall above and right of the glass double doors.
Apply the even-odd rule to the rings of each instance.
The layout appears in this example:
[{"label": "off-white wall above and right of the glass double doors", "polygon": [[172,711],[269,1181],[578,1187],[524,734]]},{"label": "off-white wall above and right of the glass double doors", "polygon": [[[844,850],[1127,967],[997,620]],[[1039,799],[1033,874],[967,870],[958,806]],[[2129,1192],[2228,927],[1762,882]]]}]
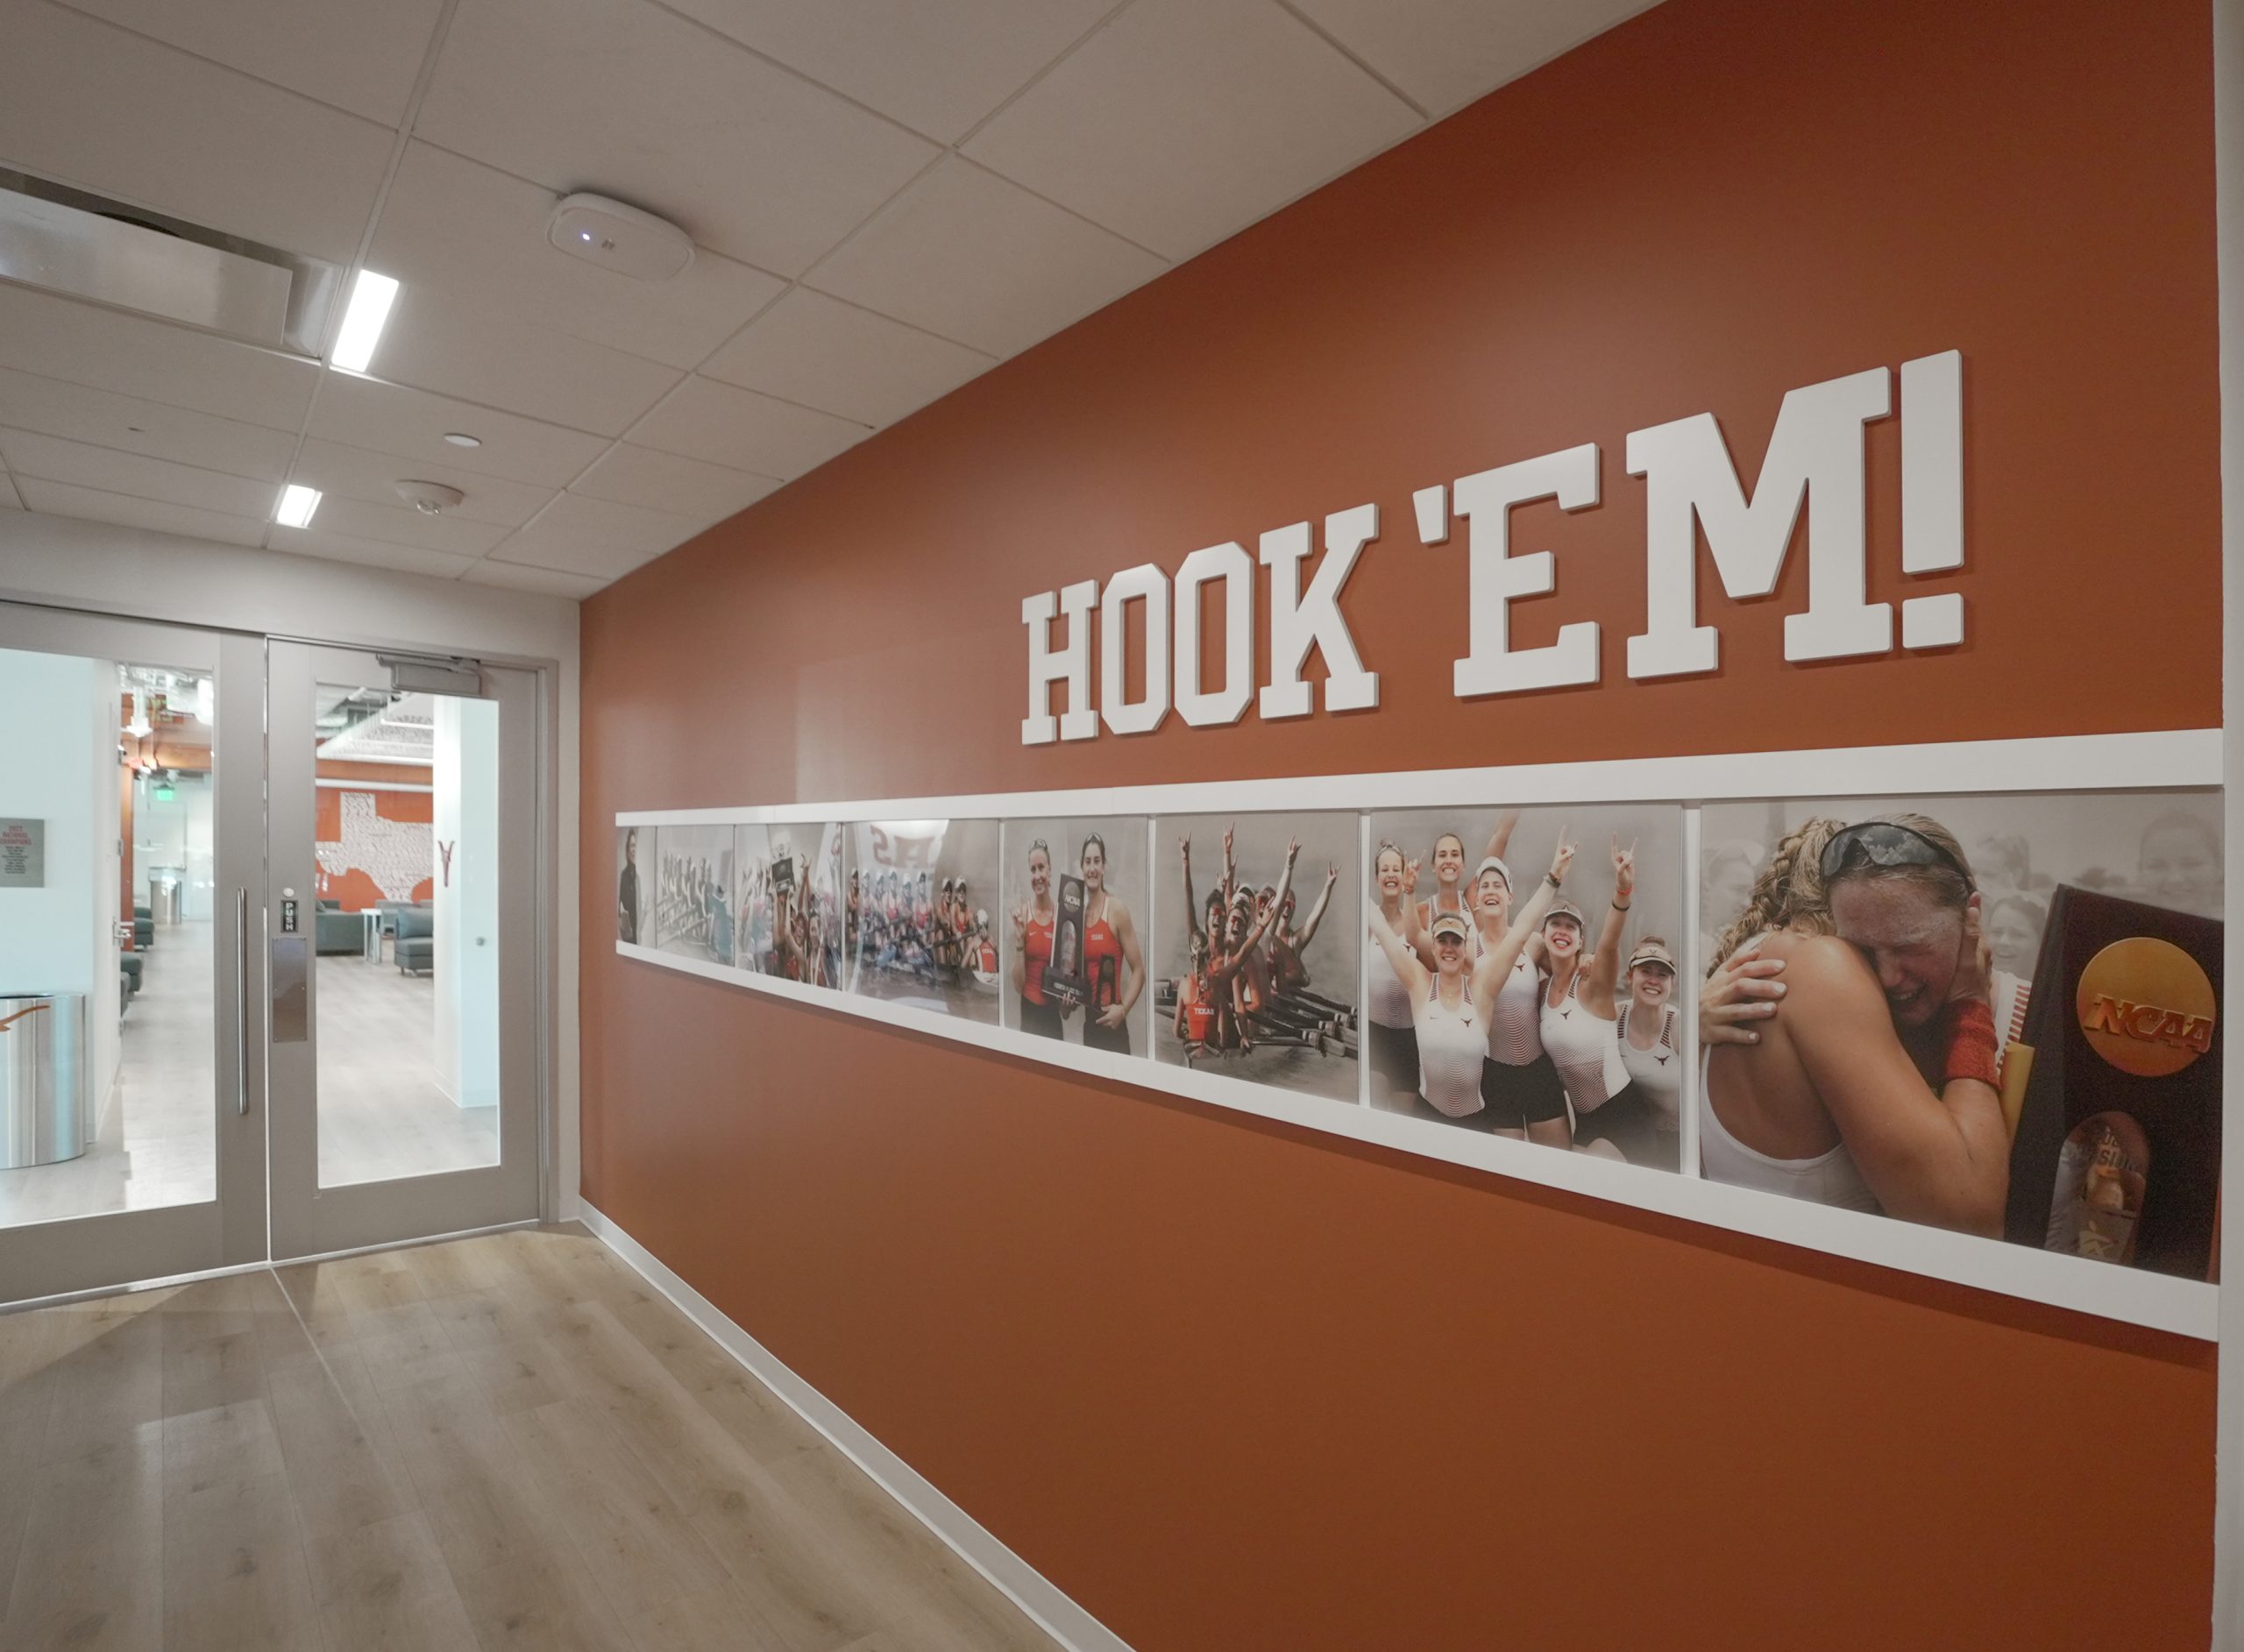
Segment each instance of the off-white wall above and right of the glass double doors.
[{"label": "off-white wall above and right of the glass double doors", "polygon": [[476,653],[552,667],[552,1158],[577,1212],[577,604],[276,550],[0,510],[0,599],[260,631],[310,642]]}]

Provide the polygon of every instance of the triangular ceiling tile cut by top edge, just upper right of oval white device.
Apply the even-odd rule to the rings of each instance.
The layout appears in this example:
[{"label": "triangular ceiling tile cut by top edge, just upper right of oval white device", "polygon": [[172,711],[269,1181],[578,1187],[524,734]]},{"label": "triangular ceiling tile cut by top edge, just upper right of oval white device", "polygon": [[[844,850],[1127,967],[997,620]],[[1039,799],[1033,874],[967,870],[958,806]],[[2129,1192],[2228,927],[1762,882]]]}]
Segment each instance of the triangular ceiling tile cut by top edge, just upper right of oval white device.
[{"label": "triangular ceiling tile cut by top edge, just upper right of oval white device", "polygon": [[938,144],[958,141],[1113,9],[1113,0],[673,4]]}]

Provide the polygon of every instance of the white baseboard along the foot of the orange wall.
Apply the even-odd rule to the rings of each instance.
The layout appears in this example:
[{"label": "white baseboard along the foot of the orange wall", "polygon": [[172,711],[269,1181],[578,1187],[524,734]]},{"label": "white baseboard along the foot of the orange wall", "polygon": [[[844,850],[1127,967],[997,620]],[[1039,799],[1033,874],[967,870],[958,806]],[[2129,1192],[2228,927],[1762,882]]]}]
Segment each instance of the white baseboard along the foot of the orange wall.
[{"label": "white baseboard along the foot of the orange wall", "polygon": [[767,1347],[725,1318],[709,1297],[671,1273],[660,1257],[595,1210],[590,1201],[577,1203],[577,1219],[1068,1652],[1131,1652],[1122,1636],[1075,1605],[1041,1571],[936,1490],[934,1481],[911,1463],[873,1439],[848,1412],[790,1371]]}]

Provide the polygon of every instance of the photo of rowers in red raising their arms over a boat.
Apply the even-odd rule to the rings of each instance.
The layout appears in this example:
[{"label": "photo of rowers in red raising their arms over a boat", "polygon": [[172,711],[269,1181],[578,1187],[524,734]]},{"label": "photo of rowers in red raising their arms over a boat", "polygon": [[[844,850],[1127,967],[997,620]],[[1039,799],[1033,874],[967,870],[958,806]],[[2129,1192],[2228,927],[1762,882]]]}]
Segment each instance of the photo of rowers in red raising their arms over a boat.
[{"label": "photo of rowers in red raising their arms over a boat", "polygon": [[1153,833],[1176,853],[1156,896],[1156,1055],[1358,1100],[1360,817],[1185,815]]}]

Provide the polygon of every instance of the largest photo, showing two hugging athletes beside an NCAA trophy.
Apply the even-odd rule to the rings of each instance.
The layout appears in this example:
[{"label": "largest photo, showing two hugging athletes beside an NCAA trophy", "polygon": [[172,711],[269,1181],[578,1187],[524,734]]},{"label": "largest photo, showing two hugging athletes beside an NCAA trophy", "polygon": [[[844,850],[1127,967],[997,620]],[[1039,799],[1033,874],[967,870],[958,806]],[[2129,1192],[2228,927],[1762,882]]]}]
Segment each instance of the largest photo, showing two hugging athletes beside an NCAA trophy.
[{"label": "largest photo, showing two hugging athletes beside an NCAA trophy", "polygon": [[1710,804],[1703,878],[1708,1178],[2206,1277],[2217,795]]}]

